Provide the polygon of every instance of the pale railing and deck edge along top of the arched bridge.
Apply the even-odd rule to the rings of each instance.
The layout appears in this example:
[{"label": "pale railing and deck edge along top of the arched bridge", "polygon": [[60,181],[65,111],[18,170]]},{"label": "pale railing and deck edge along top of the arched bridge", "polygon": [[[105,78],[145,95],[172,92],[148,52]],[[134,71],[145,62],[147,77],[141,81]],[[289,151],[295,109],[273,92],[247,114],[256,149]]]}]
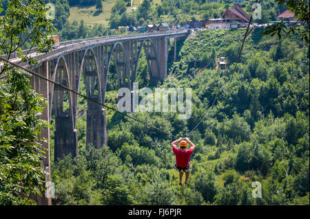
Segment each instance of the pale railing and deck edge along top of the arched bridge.
[{"label": "pale railing and deck edge along top of the arched bridge", "polygon": [[[93,45],[93,44],[101,44],[101,43],[112,43],[114,41],[120,41],[120,40],[128,40],[128,39],[137,39],[137,38],[145,38],[146,36],[149,37],[158,37],[158,36],[169,36],[174,34],[185,34],[187,33],[187,30],[172,30],[167,32],[149,32],[145,34],[126,34],[126,35],[113,35],[113,36],[101,36],[101,37],[94,37],[94,38],[84,38],[74,41],[65,41],[61,42],[59,49],[54,49],[52,51],[49,51],[45,54],[40,54],[39,56],[36,56],[35,58],[39,60],[43,60],[49,56],[54,56],[56,54],[60,54],[63,51],[72,51],[76,49],[81,49],[87,45]],[[64,47],[63,47],[64,46]],[[28,54],[29,49],[26,49],[23,51],[23,56],[25,54]],[[37,47],[30,49],[29,54],[32,54],[34,52],[38,51]],[[6,56],[3,56],[3,58],[7,58]],[[13,57],[16,58],[16,57]],[[27,62],[19,62],[19,66],[25,66],[28,65]],[[2,70],[3,65],[1,65],[0,62],[0,71]]]}]

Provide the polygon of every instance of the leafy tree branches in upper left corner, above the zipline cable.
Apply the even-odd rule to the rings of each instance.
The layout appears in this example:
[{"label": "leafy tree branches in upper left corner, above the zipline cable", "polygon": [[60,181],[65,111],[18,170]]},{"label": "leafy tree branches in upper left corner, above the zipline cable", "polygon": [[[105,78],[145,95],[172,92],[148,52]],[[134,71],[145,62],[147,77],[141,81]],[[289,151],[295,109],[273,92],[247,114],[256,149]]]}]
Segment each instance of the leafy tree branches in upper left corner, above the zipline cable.
[{"label": "leafy tree branches in upper left corner, above the zipline cable", "polygon": [[[17,64],[35,64],[35,59],[22,56],[21,50],[25,45],[30,45],[28,49],[37,45],[39,51],[52,49],[54,40],[48,34],[55,28],[46,17],[48,9],[41,1],[28,1],[25,4],[21,4],[20,1],[8,1],[6,10],[3,10],[1,2],[0,13],[3,15],[0,16],[0,54],[6,54],[6,58],[9,59],[16,52],[21,58]],[[12,69],[6,63],[4,66],[0,75]]]}]

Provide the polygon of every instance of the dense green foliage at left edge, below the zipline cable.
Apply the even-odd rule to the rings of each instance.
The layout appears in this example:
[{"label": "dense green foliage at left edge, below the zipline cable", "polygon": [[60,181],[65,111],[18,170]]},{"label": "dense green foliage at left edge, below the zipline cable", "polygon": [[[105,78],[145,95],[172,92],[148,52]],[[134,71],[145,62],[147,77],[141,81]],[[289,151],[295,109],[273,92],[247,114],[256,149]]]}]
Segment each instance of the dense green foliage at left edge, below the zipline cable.
[{"label": "dense green foliage at left edge, below the zipline cable", "polygon": [[32,90],[28,75],[17,69],[0,80],[0,205],[35,204],[30,194],[44,189],[41,115],[46,100]]}]

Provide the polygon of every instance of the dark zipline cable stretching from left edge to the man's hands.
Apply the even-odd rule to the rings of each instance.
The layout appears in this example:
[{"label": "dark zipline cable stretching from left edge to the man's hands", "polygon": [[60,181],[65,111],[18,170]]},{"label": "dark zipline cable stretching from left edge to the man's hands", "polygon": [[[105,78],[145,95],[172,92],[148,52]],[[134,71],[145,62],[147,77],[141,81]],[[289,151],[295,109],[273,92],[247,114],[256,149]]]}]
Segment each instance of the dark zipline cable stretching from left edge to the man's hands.
[{"label": "dark zipline cable stretching from left edge to the man's hands", "polygon": [[[108,109],[110,109],[110,110],[112,110],[112,111],[115,111],[116,113],[119,113],[119,114],[121,114],[121,115],[123,115],[123,116],[125,116],[125,117],[129,117],[130,119],[133,119],[133,120],[136,121],[136,122],[140,122],[141,124],[144,124],[145,126],[149,126],[150,128],[154,128],[154,129],[156,129],[156,130],[158,130],[158,131],[160,131],[160,132],[163,132],[163,133],[167,134],[167,132],[164,131],[164,130],[161,130],[161,129],[159,129],[159,128],[156,128],[155,126],[149,125],[149,124],[147,124],[146,122],[141,121],[140,119],[136,119],[136,118],[134,118],[134,117],[131,117],[130,115],[126,115],[125,113],[122,113],[122,112],[120,112],[120,111],[118,111],[118,110],[116,110],[116,109],[114,109],[114,108],[112,108],[112,107],[110,107],[110,106],[107,106],[107,105],[105,105],[105,104],[102,104],[101,102],[98,102],[98,101],[96,101],[96,100],[94,100],[94,99],[92,99],[92,98],[90,98],[90,97],[87,97],[87,96],[85,96],[85,95],[83,95],[83,94],[81,94],[81,93],[79,93],[79,92],[76,92],[76,91],[74,91],[74,90],[72,90],[72,89],[70,89],[70,88],[68,88],[68,87],[65,87],[65,86],[63,86],[62,84],[59,84],[59,83],[54,82],[54,81],[52,81],[52,80],[50,80],[50,79],[48,79],[48,78],[45,78],[44,76],[41,76],[41,75],[35,73],[34,71],[31,71],[31,70],[29,70],[29,69],[26,69],[26,68],[24,68],[24,67],[21,67],[21,66],[19,66],[19,65],[16,65],[16,64],[14,64],[13,62],[10,62],[9,60],[6,60],[6,59],[1,58],[1,57],[0,57],[0,60],[3,60],[4,62],[7,62],[7,63],[9,63],[10,65],[12,65],[12,66],[14,66],[14,67],[18,67],[19,69],[23,69],[24,71],[27,71],[28,73],[31,73],[33,76],[37,76],[37,77],[39,77],[39,78],[42,78],[43,80],[46,80],[46,81],[48,81],[48,82],[51,82],[52,84],[55,84],[55,85],[61,87],[62,89],[65,89],[65,90],[67,90],[67,91],[70,91],[70,92],[72,92],[72,93],[75,93],[76,95],[79,95],[79,96],[81,96],[81,97],[84,97],[85,99],[90,100],[90,101],[94,102],[95,104],[99,104],[99,105],[101,105],[101,106],[103,106],[103,107],[105,107],[105,108],[108,108]],[[172,136],[172,137],[176,137],[176,136],[174,136],[174,135],[172,135],[172,134],[171,134],[171,136]],[[170,138],[171,138],[171,137],[170,137]]]}]

